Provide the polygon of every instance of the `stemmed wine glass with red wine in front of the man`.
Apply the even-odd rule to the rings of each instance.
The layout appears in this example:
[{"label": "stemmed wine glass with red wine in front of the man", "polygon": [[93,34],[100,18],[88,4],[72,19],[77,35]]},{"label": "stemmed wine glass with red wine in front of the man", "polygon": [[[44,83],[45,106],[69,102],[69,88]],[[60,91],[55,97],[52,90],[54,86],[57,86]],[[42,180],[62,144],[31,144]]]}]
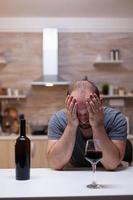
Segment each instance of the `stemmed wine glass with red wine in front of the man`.
[{"label": "stemmed wine glass with red wine in front of the man", "polygon": [[[102,151],[100,149],[100,140],[99,139],[89,139],[86,142],[85,146],[85,159],[91,163],[93,175],[95,176],[96,165],[102,159]],[[94,180],[91,184],[87,185],[88,188],[97,189],[100,188],[101,185],[97,184]]]}]

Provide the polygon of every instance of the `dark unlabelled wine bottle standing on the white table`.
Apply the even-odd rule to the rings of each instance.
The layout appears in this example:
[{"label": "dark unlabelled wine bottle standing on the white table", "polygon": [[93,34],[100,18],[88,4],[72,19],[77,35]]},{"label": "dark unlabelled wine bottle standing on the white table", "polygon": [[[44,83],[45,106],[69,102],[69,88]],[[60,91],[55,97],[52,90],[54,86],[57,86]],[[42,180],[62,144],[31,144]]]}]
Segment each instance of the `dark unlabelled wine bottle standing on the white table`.
[{"label": "dark unlabelled wine bottle standing on the white table", "polygon": [[26,120],[20,115],[20,136],[15,144],[16,179],[30,179],[30,139],[26,137]]}]

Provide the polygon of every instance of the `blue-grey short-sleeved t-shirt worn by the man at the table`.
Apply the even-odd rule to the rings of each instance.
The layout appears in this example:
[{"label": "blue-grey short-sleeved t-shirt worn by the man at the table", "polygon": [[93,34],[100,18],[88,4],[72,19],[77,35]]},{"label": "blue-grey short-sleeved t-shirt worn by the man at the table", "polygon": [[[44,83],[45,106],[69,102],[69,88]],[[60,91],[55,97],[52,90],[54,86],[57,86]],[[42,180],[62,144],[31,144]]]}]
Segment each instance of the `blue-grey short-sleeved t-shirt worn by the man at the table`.
[{"label": "blue-grey short-sleeved t-shirt worn by the man at the table", "polygon": [[[67,118],[64,110],[53,114],[48,125],[48,138],[58,140],[67,126]],[[126,140],[127,121],[125,116],[118,110],[104,107],[104,127],[111,140]],[[74,166],[88,166],[84,159],[85,140],[80,128],[77,128],[76,141],[72,154]]]}]

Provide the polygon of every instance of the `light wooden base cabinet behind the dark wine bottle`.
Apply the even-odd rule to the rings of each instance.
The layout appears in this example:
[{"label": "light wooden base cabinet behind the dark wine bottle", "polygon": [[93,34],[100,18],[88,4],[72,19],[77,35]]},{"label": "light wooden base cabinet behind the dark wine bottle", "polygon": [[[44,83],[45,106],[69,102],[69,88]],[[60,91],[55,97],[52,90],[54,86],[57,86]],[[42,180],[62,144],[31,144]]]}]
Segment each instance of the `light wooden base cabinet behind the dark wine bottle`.
[{"label": "light wooden base cabinet behind the dark wine bottle", "polygon": [[[0,136],[0,168],[15,167],[16,136]],[[47,136],[31,136],[31,167],[48,167]]]}]

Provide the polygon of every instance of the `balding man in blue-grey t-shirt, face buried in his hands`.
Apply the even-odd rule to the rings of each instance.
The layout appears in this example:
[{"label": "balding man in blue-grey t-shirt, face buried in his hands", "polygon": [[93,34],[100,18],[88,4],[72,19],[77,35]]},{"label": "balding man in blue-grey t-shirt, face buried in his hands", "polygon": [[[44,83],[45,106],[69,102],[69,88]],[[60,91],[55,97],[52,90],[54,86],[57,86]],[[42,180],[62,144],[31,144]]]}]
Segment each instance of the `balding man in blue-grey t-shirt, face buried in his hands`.
[{"label": "balding man in blue-grey t-shirt, face buried in his hands", "polygon": [[116,169],[124,157],[127,123],[121,112],[103,107],[98,88],[88,80],[74,82],[68,90],[65,109],[49,121],[47,155],[50,167],[62,169],[69,161],[85,167],[85,142],[100,140],[105,169]]}]

